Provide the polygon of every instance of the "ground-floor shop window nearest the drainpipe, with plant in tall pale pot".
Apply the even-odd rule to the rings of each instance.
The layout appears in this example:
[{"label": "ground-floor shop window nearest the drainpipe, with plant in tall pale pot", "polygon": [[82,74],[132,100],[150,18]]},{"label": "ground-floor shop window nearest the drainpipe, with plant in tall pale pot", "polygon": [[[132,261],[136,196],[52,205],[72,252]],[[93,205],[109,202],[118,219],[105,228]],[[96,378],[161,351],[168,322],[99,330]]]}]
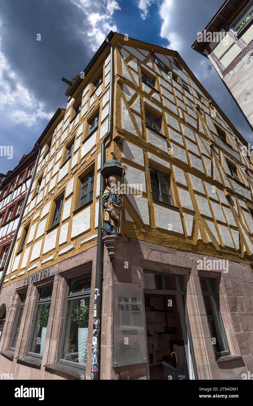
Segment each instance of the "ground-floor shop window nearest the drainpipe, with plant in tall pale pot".
[{"label": "ground-floor shop window nearest the drainpipe, with plant in tall pale pot", "polygon": [[60,363],[86,368],[91,274],[70,283]]}]

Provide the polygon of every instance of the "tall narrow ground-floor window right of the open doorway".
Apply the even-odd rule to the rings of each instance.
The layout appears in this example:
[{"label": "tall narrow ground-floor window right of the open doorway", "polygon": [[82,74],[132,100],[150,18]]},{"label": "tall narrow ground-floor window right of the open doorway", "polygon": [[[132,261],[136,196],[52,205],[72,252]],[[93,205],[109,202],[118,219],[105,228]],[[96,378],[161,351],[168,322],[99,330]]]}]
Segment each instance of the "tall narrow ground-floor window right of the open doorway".
[{"label": "tall narrow ground-floor window right of the open doorway", "polygon": [[230,354],[212,279],[200,278],[212,344],[217,357]]}]

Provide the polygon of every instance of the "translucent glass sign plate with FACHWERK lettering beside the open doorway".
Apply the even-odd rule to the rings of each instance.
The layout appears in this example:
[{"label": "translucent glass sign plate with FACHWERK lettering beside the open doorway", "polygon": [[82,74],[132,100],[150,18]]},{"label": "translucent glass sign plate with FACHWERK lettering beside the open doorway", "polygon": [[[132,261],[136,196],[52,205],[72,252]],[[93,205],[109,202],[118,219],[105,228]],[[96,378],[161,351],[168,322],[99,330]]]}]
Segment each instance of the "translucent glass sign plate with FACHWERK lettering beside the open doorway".
[{"label": "translucent glass sign plate with FACHWERK lettering beside the open doorway", "polygon": [[114,285],[114,367],[147,362],[142,288]]}]

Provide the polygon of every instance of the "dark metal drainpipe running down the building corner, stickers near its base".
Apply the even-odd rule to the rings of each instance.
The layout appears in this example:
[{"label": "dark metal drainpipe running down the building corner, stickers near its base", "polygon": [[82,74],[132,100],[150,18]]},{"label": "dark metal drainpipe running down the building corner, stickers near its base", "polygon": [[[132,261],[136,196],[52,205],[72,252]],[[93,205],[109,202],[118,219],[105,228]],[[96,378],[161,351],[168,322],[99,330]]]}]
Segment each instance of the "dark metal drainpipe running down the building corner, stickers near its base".
[{"label": "dark metal drainpipe running down the building corner, stickers near its base", "polygon": [[[107,44],[111,47],[111,61],[110,61],[110,90],[109,90],[109,120],[108,120],[108,130],[105,138],[101,144],[101,169],[105,164],[105,143],[108,138],[111,136],[112,133],[112,121],[113,121],[113,98],[114,98],[114,50],[113,46],[109,42],[109,39],[106,39]],[[100,192],[99,192],[99,222],[98,222],[98,236],[97,236],[97,249],[96,249],[96,279],[95,279],[95,299],[96,300],[96,316],[94,315],[94,322],[93,322],[93,329],[96,329],[97,324],[99,323],[99,329],[97,331],[97,343],[94,346],[93,352],[97,351],[97,372],[94,373],[92,371],[91,365],[91,373],[92,373],[92,380],[97,380],[100,378],[100,369],[99,369],[99,361],[100,361],[100,343],[101,343],[101,299],[102,299],[102,285],[103,285],[103,254],[104,254],[104,244],[103,244],[103,232],[102,232],[102,196],[105,188],[105,179],[102,175],[100,175]],[[94,306],[95,308],[95,306]],[[95,309],[94,309],[95,310]],[[95,350],[97,348],[97,350]],[[93,358],[93,357],[92,357]],[[91,362],[92,364],[92,362]]]}]

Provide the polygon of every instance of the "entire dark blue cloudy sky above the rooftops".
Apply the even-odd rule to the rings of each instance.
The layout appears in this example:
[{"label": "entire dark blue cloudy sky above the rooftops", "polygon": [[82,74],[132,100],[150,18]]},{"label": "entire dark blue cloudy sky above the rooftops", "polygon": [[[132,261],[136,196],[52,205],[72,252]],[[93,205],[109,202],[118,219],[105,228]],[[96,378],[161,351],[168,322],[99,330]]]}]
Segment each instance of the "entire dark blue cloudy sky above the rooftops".
[{"label": "entire dark blue cloudy sky above the rooftops", "polygon": [[[86,67],[112,29],[177,50],[249,142],[251,130],[209,60],[191,49],[222,0],[0,0],[0,172],[30,152],[67,85]],[[41,41],[37,41],[41,34]]]}]

